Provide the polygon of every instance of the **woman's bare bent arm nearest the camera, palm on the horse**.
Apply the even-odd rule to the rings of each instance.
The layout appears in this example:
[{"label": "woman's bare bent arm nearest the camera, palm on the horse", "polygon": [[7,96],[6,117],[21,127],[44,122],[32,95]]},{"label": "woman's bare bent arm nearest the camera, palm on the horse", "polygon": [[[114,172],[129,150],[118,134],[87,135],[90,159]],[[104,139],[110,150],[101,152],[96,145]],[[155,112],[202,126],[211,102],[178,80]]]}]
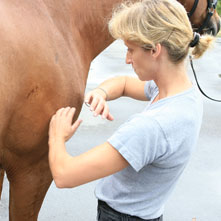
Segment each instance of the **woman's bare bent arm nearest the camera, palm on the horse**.
[{"label": "woman's bare bent arm nearest the camera, palm on the horse", "polygon": [[80,120],[72,124],[74,108],[62,108],[52,117],[49,129],[49,165],[59,188],[76,187],[111,175],[128,162],[108,142],[79,156],[67,153],[65,142],[74,134]]}]

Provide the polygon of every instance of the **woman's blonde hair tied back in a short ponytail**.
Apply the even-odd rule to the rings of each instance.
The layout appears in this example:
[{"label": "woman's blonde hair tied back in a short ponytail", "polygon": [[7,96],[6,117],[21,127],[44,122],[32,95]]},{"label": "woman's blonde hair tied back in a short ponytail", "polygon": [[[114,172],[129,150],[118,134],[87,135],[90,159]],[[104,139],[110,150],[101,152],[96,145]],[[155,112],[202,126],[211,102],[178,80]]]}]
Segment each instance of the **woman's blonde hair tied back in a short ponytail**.
[{"label": "woman's blonde hair tied back in a short ponytail", "polygon": [[[109,21],[115,39],[131,41],[150,49],[163,45],[172,62],[182,61],[188,54],[193,30],[185,8],[176,0],[143,0],[126,2],[117,7]],[[210,46],[212,36],[201,37],[192,55],[199,58]]]}]

